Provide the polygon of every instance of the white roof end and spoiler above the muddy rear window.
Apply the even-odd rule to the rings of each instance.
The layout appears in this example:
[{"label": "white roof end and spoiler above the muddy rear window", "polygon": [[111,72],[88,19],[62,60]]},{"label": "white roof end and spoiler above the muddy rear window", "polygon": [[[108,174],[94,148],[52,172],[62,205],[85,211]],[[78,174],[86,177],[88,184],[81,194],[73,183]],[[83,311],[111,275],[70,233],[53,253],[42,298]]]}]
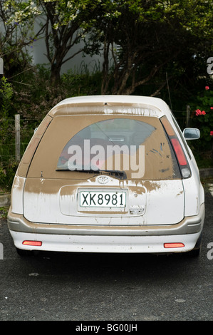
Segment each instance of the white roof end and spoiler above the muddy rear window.
[{"label": "white roof end and spoiler above the muddy rear window", "polygon": [[171,117],[167,103],[160,98],[149,96],[77,96],[67,98],[55,105],[48,113],[52,117],[73,114],[132,114],[160,118]]}]

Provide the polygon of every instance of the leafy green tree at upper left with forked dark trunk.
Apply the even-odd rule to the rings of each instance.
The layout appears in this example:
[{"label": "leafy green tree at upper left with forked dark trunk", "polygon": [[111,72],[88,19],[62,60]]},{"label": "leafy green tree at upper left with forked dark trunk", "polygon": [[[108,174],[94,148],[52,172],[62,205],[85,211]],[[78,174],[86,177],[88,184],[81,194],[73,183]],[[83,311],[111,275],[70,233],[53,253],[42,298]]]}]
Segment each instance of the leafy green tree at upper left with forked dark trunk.
[{"label": "leafy green tree at upper left with forked dark trunk", "polygon": [[[51,66],[51,82],[60,80],[61,66],[83,51],[72,53],[73,46],[83,40],[93,26],[93,19],[100,0],[6,0],[6,8],[10,9],[11,17],[7,24],[33,26],[35,17],[41,18],[41,31],[46,43],[46,57]],[[68,52],[71,53],[68,55]]]}]

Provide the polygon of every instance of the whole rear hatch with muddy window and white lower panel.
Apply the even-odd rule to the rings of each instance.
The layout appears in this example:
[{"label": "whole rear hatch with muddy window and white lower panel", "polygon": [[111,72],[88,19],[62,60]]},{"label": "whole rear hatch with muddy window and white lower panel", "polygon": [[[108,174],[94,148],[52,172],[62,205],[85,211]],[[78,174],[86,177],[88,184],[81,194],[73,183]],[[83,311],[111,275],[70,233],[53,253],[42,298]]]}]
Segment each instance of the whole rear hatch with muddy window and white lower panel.
[{"label": "whole rear hatch with muddy window and white lower panel", "polygon": [[68,225],[180,222],[182,179],[160,120],[141,115],[55,117],[28,170],[24,216],[31,222]]}]

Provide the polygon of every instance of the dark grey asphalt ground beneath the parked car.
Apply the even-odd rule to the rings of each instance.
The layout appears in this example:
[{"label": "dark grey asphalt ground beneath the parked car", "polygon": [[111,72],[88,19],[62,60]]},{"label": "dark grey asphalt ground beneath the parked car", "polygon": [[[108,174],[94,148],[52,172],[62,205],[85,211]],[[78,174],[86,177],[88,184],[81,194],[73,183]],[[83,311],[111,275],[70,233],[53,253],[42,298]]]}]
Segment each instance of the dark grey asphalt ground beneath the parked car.
[{"label": "dark grey asphalt ground beneath the parked car", "polygon": [[50,252],[23,258],[1,219],[0,320],[213,320],[212,205],[207,192],[198,258]]}]

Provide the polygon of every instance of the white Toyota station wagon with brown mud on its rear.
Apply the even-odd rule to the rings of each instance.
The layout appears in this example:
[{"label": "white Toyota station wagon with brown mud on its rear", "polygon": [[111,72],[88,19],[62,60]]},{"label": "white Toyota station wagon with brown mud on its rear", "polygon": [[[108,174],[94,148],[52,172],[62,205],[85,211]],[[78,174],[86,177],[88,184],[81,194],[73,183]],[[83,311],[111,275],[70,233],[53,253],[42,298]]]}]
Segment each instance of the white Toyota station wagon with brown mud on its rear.
[{"label": "white Toyota station wagon with brown mud on its rear", "polygon": [[204,190],[167,104],[142,96],[61,101],[14,177],[8,226],[19,252],[199,254]]}]

